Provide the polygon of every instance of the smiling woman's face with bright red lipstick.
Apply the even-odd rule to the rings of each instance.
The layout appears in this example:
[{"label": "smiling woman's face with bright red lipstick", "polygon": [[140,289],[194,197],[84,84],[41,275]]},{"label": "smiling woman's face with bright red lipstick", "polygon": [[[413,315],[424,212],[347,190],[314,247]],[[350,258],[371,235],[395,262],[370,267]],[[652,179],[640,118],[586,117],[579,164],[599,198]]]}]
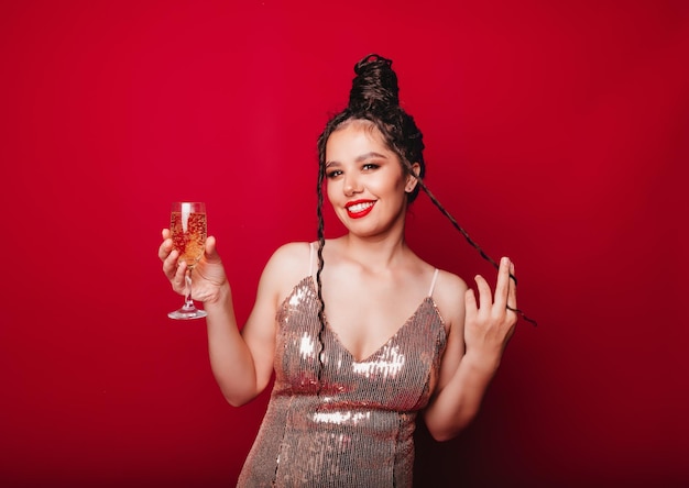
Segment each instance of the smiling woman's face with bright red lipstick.
[{"label": "smiling woman's face with bright red lipstick", "polygon": [[371,236],[404,228],[405,190],[416,180],[375,126],[353,121],[330,134],[326,178],[328,199],[350,232]]}]

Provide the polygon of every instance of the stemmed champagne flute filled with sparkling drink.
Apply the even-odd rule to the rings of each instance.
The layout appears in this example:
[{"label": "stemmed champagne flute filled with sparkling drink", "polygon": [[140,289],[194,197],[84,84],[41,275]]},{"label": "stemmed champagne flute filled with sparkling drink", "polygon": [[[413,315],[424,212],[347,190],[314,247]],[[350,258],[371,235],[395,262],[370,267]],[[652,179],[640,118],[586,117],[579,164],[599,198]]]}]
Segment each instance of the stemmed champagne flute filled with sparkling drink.
[{"label": "stemmed champagne flute filled with sparkling drink", "polygon": [[176,320],[200,319],[206,317],[206,312],[194,307],[192,271],[206,248],[206,203],[199,201],[174,202],[169,213],[169,232],[172,233],[173,246],[179,253],[179,259],[187,263],[187,273],[185,276],[184,306],[169,312],[167,317]]}]

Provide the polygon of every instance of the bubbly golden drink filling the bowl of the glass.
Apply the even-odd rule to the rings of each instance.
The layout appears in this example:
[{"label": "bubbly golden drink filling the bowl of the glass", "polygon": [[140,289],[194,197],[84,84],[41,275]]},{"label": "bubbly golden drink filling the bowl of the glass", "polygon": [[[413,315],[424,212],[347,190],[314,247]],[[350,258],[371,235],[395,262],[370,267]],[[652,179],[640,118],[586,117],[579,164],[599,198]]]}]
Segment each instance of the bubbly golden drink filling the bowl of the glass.
[{"label": "bubbly golden drink filling the bowl of the glass", "polygon": [[206,248],[206,212],[193,210],[183,203],[182,210],[171,212],[169,217],[173,246],[189,267],[201,258]]}]

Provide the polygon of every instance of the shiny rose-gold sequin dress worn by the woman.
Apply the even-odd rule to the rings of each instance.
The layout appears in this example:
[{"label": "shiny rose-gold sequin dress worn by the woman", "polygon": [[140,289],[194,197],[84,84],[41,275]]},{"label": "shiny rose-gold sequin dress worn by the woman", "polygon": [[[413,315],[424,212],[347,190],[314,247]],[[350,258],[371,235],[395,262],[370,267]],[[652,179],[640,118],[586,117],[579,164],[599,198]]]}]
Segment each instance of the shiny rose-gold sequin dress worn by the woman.
[{"label": "shiny rose-gold sequin dress worn by the woman", "polygon": [[319,364],[310,276],[284,300],[277,325],[275,382],[238,486],[411,487],[415,419],[446,345],[433,298],[363,361],[326,325]]}]

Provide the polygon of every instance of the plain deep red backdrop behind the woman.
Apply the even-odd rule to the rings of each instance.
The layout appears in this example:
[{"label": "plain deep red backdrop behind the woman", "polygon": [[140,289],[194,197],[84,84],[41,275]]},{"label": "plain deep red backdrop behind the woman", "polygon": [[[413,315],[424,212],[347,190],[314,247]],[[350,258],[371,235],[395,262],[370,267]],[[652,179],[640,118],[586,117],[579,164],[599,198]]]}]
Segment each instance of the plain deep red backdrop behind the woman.
[{"label": "plain deep red backdrop behind the woman", "polygon": [[[419,3],[2,2],[1,485],[236,480],[266,396],[227,404],[204,323],[166,318],[160,229],[207,202],[245,319],[316,236],[315,141],[371,52],[539,322],[460,437],[419,431],[418,485],[689,483],[687,2]],[[408,236],[493,276],[424,196]]]}]

